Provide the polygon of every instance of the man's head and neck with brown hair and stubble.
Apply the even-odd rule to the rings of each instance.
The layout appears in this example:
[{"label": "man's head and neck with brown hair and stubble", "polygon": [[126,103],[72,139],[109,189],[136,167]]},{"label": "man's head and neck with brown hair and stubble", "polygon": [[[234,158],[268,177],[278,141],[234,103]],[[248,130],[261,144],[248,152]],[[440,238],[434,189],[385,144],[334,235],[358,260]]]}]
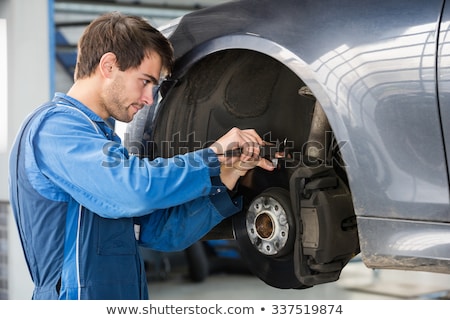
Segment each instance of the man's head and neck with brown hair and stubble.
[{"label": "man's head and neck with brown hair and stubble", "polygon": [[104,14],[78,42],[75,84],[68,94],[103,119],[129,122],[153,103],[155,88],[172,64],[170,42],[143,18]]}]

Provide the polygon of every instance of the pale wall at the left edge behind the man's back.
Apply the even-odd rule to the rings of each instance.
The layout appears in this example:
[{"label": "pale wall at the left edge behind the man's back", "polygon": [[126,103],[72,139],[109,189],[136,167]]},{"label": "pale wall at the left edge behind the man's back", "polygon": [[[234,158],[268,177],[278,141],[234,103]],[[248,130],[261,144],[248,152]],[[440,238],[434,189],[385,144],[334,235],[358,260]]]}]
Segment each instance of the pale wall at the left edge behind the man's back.
[{"label": "pale wall at the left edge behind the man's back", "polygon": [[[6,20],[8,66],[7,107],[6,111],[0,109],[0,117],[7,118],[7,137],[2,137],[7,146],[6,150],[0,149],[0,229],[5,230],[4,224],[7,225],[7,241],[0,246],[0,256],[5,249],[8,253],[7,263],[0,264],[0,274],[6,273],[8,281],[0,282],[3,287],[0,292],[6,286],[9,299],[29,299],[32,292],[16,226],[7,205],[8,155],[23,119],[50,97],[49,1],[0,0],[0,19]],[[6,70],[2,68],[0,72],[4,75]]]}]

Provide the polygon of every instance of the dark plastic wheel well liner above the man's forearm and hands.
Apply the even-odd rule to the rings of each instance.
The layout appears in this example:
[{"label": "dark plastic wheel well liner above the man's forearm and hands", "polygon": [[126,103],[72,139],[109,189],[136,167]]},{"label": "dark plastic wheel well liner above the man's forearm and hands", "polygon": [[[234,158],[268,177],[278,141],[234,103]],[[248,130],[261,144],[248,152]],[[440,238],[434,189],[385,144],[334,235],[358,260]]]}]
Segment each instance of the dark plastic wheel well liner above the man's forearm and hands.
[{"label": "dark plastic wheel well liner above the man's forearm and hands", "polygon": [[[179,79],[164,99],[155,141],[176,143],[163,156],[204,147],[231,127],[255,128],[268,141],[288,138],[301,152],[308,140],[314,99],[305,83],[277,60],[251,50],[210,54]],[[174,105],[172,105],[174,104]]]}]

